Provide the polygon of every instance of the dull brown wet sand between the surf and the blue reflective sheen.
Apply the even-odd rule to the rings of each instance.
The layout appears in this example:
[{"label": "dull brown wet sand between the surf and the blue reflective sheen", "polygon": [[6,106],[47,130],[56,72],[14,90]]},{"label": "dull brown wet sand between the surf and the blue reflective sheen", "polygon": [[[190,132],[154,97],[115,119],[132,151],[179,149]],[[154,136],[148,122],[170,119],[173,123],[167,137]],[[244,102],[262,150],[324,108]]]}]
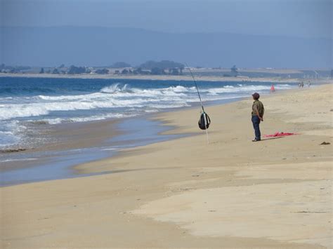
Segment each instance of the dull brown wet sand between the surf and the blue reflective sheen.
[{"label": "dull brown wet sand between the surf and the blue reflective sheen", "polygon": [[[121,134],[120,130],[115,128],[117,123],[117,120],[108,120],[57,125],[30,124],[30,133],[33,135],[28,144],[0,151],[0,172],[46,163],[52,154],[58,152],[103,147],[107,140]],[[36,161],[36,155],[39,155],[39,161]],[[43,155],[44,159],[40,158],[40,155]]]}]

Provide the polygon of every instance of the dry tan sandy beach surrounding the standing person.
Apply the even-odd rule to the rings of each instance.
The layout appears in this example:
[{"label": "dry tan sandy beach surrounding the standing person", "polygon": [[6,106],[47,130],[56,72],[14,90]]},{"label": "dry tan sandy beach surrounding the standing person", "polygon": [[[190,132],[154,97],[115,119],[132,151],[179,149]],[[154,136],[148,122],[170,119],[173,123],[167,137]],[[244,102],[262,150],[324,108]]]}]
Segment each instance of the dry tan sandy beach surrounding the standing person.
[{"label": "dry tan sandy beach surrounding the standing person", "polygon": [[1,187],[1,248],[332,248],[332,93],[261,97],[261,132],[297,135],[252,142],[249,97],[206,108],[209,144],[200,109],[164,112],[193,135]]}]

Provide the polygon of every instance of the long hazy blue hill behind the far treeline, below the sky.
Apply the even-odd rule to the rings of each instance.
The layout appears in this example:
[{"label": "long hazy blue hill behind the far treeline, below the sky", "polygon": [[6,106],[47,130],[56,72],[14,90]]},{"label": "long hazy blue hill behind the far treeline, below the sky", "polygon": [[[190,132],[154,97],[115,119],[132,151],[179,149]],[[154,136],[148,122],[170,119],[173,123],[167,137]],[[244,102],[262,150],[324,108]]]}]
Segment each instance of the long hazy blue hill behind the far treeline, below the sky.
[{"label": "long hazy blue hill behind the far treeline, below the sky", "polygon": [[106,27],[0,27],[0,64],[105,66],[174,60],[192,66],[332,67],[332,39],[164,33]]}]

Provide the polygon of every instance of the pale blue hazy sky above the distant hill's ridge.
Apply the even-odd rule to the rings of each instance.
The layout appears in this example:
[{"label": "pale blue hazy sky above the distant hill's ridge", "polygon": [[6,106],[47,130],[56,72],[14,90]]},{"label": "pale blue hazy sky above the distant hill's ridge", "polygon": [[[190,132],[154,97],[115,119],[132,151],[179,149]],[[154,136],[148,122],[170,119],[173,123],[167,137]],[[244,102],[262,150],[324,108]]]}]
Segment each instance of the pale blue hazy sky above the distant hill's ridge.
[{"label": "pale blue hazy sky above the distant hill's ridge", "polygon": [[332,39],[332,0],[0,0],[1,26],[138,27]]}]

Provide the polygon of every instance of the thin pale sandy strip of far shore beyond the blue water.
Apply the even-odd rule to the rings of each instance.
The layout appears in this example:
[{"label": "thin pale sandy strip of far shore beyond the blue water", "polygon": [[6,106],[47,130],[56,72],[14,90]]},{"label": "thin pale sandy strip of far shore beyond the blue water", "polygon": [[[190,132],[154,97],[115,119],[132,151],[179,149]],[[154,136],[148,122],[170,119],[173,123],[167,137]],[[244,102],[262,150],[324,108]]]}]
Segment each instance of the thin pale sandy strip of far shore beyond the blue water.
[{"label": "thin pale sandy strip of far shore beyond the blue water", "polygon": [[[10,74],[0,73],[0,78],[51,78],[51,79],[137,79],[159,81],[192,81],[190,75],[119,75],[119,74]],[[272,82],[299,83],[308,79],[280,79],[278,77],[224,77],[224,76],[195,76],[197,81],[243,81],[243,82]],[[313,79],[312,79],[313,81]],[[333,83],[333,79],[316,79],[316,83]],[[313,82],[312,82],[313,83]]]}]

